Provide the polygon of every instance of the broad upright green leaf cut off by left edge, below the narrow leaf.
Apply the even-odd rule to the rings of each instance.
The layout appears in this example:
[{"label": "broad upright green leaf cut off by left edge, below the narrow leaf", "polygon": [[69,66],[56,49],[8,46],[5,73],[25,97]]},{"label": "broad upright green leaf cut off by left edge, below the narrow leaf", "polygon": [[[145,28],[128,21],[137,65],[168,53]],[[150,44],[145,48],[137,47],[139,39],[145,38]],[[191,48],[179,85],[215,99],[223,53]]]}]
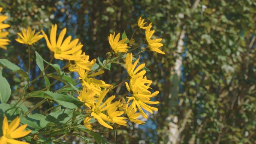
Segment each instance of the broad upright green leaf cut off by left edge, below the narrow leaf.
[{"label": "broad upright green leaf cut off by left edge, below the narrow leaf", "polygon": [[12,91],[10,89],[9,83],[2,75],[0,75],[0,101],[1,101],[1,103],[6,103],[9,100],[11,92]]}]

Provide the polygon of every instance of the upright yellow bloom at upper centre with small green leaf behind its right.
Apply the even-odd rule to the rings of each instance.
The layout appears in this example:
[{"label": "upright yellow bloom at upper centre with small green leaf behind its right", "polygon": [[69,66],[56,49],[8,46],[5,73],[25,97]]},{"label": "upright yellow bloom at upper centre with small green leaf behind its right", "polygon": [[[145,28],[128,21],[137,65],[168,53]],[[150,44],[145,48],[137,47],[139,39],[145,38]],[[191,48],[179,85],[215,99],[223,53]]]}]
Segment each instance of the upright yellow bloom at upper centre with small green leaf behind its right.
[{"label": "upright yellow bloom at upper centre with small green leaf behind its right", "polygon": [[120,33],[118,33],[115,37],[115,31],[114,34],[110,34],[109,35],[109,44],[111,46],[111,48],[114,50],[115,53],[117,52],[127,52],[128,49],[130,48],[129,46],[127,46],[127,43],[125,43],[127,41],[127,38],[120,40]]}]

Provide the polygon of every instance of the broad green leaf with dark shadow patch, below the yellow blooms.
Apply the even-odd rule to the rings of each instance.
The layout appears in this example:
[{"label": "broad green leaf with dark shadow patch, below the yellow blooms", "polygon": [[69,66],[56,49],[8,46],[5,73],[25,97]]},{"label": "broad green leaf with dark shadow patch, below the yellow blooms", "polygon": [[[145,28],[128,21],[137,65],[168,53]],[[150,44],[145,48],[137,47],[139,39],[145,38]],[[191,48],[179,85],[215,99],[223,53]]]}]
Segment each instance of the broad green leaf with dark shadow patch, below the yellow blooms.
[{"label": "broad green leaf with dark shadow patch, below the yellow blooms", "polygon": [[73,110],[61,109],[49,113],[46,118],[55,124],[65,124],[73,116]]}]

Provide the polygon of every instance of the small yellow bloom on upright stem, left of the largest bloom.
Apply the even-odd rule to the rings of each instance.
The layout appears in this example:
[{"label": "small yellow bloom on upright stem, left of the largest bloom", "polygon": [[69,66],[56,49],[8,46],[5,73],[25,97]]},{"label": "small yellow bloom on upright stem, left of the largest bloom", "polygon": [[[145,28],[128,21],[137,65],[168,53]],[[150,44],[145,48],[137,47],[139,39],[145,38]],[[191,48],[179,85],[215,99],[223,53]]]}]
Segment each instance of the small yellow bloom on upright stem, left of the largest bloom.
[{"label": "small yellow bloom on upright stem, left of the largest bloom", "polygon": [[30,27],[27,28],[27,31],[25,30],[25,28],[23,28],[21,32],[22,34],[18,33],[21,39],[15,39],[15,40],[22,44],[32,45],[33,43],[43,38],[43,35],[39,35],[40,31],[35,34],[36,30],[32,31]]}]

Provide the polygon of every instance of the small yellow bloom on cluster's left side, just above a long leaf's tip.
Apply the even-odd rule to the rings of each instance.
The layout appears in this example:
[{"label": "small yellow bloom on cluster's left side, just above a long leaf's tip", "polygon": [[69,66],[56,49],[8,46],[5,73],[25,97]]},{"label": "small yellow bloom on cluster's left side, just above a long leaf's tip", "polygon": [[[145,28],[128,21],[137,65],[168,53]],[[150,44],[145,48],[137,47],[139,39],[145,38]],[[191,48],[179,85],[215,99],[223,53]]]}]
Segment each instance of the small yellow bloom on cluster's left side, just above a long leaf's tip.
[{"label": "small yellow bloom on cluster's left side, just above a long leaf's tip", "polygon": [[85,102],[85,105],[89,108],[91,108],[90,105],[94,104],[94,100],[96,99],[95,96],[95,92],[92,89],[87,90],[85,86],[83,86],[83,89],[80,90],[80,92],[77,92],[79,96],[77,96],[77,98],[82,101]]}]

